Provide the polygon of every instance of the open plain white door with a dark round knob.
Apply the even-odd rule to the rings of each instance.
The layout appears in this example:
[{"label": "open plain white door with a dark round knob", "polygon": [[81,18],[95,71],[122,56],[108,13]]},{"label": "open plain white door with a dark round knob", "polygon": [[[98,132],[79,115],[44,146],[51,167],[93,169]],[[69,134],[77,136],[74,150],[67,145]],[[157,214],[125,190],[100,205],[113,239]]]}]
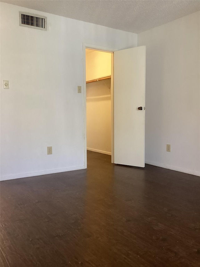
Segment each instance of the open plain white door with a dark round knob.
[{"label": "open plain white door with a dark round knob", "polygon": [[146,46],[114,52],[114,163],[117,164],[144,167],[145,69]]}]

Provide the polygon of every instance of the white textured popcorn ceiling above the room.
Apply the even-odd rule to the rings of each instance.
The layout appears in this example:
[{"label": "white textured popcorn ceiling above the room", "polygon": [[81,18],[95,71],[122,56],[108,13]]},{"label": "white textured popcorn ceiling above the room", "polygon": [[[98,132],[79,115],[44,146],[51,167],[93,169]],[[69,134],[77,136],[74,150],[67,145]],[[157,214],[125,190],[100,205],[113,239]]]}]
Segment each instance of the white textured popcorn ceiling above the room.
[{"label": "white textured popcorn ceiling above the room", "polygon": [[140,33],[200,10],[192,0],[0,0],[25,8]]}]

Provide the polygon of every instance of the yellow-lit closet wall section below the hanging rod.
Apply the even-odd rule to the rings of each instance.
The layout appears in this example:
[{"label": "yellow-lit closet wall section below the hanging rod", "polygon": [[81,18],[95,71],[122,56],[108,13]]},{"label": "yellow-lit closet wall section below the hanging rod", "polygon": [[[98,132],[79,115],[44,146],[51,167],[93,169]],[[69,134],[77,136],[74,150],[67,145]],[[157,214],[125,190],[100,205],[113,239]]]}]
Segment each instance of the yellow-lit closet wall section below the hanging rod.
[{"label": "yellow-lit closet wall section below the hanging rod", "polygon": [[111,155],[110,80],[86,86],[87,149]]}]

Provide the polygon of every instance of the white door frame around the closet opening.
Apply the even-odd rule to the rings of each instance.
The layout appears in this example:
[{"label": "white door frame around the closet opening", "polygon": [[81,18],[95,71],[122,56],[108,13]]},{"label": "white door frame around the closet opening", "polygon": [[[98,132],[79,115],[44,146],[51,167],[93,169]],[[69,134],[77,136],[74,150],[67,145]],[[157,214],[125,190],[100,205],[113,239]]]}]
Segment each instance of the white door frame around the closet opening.
[{"label": "white door frame around the closet opening", "polygon": [[114,163],[114,51],[116,48],[83,43],[83,138],[84,138],[84,168],[87,168],[87,117],[86,117],[86,53],[85,49],[111,52],[111,162]]}]

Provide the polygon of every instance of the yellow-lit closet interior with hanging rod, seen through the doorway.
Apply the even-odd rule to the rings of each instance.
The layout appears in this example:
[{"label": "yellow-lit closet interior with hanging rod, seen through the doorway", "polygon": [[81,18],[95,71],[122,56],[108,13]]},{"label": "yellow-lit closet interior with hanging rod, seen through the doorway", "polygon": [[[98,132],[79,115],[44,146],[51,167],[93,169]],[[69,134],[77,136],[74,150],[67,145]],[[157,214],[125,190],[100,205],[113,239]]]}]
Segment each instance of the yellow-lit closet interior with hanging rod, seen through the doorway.
[{"label": "yellow-lit closet interior with hanging rod, seen through the doorway", "polygon": [[111,155],[111,56],[86,49],[87,150]]}]

